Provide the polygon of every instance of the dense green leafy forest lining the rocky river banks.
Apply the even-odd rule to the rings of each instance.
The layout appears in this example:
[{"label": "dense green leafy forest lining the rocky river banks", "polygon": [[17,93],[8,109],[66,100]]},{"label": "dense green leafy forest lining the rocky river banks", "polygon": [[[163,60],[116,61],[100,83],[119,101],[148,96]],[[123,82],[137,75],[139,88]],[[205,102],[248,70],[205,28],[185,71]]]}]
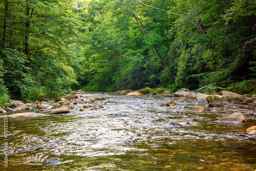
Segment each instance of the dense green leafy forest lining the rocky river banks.
[{"label": "dense green leafy forest lining the rocky river banks", "polygon": [[256,1],[2,0],[0,103],[72,90],[256,90]]}]

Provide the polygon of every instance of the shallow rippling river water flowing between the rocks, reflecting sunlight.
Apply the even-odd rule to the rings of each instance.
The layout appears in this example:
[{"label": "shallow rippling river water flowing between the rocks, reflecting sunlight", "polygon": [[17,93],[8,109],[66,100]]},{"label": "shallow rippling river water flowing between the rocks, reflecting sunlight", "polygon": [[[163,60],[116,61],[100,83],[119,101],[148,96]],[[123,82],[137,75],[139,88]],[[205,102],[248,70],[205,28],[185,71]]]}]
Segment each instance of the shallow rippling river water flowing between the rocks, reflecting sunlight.
[{"label": "shallow rippling river water flowing between the rocks, reflecting sunlight", "polygon": [[[90,94],[101,97],[102,94]],[[256,137],[246,129],[256,125],[256,103],[224,102],[204,112],[198,100],[174,97],[115,96],[121,103],[96,101],[101,110],[8,119],[8,167],[1,143],[0,170],[255,170]],[[220,123],[216,117],[241,112],[245,123]],[[49,112],[48,112],[49,113]],[[47,112],[46,112],[47,114]],[[170,122],[186,120],[187,125]],[[1,119],[1,142],[4,120]],[[50,157],[59,163],[44,164]]]}]

